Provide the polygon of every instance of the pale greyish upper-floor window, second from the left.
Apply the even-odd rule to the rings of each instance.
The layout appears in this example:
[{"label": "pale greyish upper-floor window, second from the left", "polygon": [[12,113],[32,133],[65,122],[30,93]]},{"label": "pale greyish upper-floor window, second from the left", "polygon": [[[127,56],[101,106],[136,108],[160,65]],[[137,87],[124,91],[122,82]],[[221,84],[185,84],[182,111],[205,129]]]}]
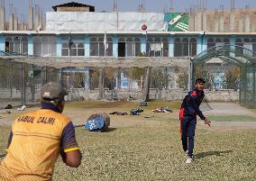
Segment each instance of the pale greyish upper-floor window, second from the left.
[{"label": "pale greyish upper-floor window, second from the left", "polygon": [[[62,50],[61,50],[62,51]],[[54,57],[57,55],[56,36],[33,37],[33,55],[39,57]]]}]

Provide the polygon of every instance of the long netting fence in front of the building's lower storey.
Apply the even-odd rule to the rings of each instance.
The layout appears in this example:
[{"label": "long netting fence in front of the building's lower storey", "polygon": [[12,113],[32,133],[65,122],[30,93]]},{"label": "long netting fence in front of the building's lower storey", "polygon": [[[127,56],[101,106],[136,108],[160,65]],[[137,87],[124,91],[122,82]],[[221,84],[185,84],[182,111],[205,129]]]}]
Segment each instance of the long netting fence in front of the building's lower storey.
[{"label": "long netting fence in front of the building's lower storey", "polygon": [[[0,59],[0,107],[5,108],[8,104],[39,104],[41,86],[49,81],[59,82],[68,90],[67,101],[144,98],[147,68],[52,68],[48,65],[38,66]],[[214,64],[210,67],[206,64],[201,68],[197,67],[197,77],[206,79],[206,89],[239,90],[237,87],[242,83],[237,76],[240,72],[233,72],[235,66],[222,65],[223,69],[214,71],[217,68],[219,66]],[[223,70],[226,71],[225,74],[221,74]],[[149,75],[151,100],[181,100],[186,95],[188,68],[150,68]],[[215,76],[223,77],[218,78],[217,82]],[[101,90],[103,96],[100,97]]]}]

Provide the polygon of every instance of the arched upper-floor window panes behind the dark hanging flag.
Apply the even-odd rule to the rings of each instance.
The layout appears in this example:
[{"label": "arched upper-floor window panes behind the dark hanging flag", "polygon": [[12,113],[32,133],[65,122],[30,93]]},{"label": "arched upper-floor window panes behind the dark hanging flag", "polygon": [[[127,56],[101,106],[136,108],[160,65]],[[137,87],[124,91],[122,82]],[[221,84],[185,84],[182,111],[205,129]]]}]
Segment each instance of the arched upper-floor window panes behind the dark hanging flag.
[{"label": "arched upper-floor window panes behind the dark hanging flag", "polygon": [[69,44],[63,43],[61,47],[61,56],[83,57],[85,56],[85,47],[83,43],[74,43],[69,50]]}]

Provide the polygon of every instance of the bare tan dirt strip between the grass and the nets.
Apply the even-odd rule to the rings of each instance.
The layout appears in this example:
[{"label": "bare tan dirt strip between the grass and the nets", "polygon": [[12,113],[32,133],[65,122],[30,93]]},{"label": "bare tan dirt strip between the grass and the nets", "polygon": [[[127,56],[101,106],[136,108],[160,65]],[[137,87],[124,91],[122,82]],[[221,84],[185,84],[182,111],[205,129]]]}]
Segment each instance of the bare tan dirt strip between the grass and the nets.
[{"label": "bare tan dirt strip between the grass and the nets", "polygon": [[[78,102],[78,103],[67,103],[64,114],[68,115],[74,124],[83,124],[87,122],[87,118],[93,113],[111,113],[114,111],[127,112],[129,113],[132,108],[144,109],[144,113],[138,116],[132,115],[110,115],[111,127],[126,127],[136,126],[142,124],[154,124],[160,119],[177,119],[178,121],[178,107],[179,102],[153,102],[149,103],[147,107],[138,106],[138,102]],[[173,110],[173,113],[152,113],[151,110],[160,106],[169,106]],[[20,114],[31,112],[39,109],[39,106],[27,108],[24,112],[16,111],[15,109],[10,110],[12,113],[0,113],[0,125],[11,125],[14,119]],[[212,122],[210,128],[204,125],[204,122],[197,122],[198,129],[205,129],[208,131],[228,131],[228,130],[240,130],[240,129],[253,129],[256,128],[256,112],[255,110],[247,109],[236,103],[209,103],[202,104],[201,110],[206,116],[224,116],[224,115],[239,115],[239,116],[251,116],[255,118],[255,122]],[[152,116],[151,118],[144,118],[145,116]],[[158,122],[160,123],[160,122]]]}]

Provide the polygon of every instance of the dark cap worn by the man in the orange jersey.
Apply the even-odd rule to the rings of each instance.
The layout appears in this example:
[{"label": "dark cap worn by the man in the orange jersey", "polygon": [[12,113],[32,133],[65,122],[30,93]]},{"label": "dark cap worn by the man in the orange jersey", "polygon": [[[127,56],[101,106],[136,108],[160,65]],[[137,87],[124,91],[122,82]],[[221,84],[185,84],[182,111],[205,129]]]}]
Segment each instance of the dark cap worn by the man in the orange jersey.
[{"label": "dark cap worn by the man in the orange jersey", "polygon": [[41,87],[41,99],[45,101],[64,101],[64,96],[68,95],[65,88],[56,82],[49,82]]}]

